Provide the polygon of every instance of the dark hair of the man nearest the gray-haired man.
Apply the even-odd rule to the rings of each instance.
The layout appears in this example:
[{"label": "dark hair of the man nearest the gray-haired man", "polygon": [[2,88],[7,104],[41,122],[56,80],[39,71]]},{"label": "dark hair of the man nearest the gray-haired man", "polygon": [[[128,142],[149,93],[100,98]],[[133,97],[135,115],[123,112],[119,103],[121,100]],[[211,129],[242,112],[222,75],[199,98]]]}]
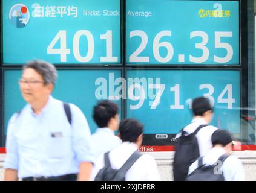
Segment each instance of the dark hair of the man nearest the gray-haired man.
[{"label": "dark hair of the man nearest the gray-haired man", "polygon": [[93,119],[98,127],[107,127],[108,121],[117,115],[118,106],[109,100],[99,101],[93,109]]}]

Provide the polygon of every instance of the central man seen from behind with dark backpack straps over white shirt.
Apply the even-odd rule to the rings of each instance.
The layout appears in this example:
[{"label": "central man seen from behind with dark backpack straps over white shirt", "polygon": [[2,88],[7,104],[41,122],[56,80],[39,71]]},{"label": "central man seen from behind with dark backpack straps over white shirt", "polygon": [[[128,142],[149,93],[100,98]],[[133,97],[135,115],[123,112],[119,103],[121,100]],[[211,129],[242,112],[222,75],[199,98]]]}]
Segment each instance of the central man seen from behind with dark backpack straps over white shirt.
[{"label": "central man seen from behind with dark backpack straps over white shirt", "polygon": [[101,154],[91,176],[96,181],[151,181],[160,180],[156,161],[138,152],[142,144],[143,125],[136,119],[125,119],[119,125],[122,144]]}]

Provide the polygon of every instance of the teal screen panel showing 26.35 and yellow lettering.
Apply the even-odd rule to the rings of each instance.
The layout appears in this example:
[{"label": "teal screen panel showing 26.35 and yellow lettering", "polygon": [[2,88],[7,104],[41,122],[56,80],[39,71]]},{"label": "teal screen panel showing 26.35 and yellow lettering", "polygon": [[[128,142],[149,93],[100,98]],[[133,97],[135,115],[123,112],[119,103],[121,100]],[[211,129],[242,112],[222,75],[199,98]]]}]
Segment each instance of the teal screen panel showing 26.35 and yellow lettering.
[{"label": "teal screen panel showing 26.35 and yellow lettering", "polygon": [[238,1],[126,1],[129,64],[239,65]]}]

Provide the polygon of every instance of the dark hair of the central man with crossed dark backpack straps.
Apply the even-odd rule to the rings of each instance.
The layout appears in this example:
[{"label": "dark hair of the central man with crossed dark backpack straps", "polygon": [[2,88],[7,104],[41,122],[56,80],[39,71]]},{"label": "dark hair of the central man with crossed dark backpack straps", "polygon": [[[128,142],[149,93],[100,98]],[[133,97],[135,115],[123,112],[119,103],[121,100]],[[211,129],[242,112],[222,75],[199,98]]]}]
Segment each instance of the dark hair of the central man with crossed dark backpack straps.
[{"label": "dark hair of the central man with crossed dark backpack straps", "polygon": [[143,125],[136,119],[124,119],[120,122],[119,132],[123,142],[136,142],[143,133]]}]

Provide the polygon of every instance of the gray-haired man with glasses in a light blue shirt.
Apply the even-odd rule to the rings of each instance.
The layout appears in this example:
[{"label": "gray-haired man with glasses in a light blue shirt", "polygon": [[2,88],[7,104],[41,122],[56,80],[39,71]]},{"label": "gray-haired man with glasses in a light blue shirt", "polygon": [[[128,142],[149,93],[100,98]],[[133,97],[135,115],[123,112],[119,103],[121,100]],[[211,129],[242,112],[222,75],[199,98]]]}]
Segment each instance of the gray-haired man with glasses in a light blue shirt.
[{"label": "gray-haired man with glasses in a light blue shirt", "polygon": [[23,66],[19,87],[25,107],[7,128],[4,180],[89,180],[94,156],[82,111],[51,96],[54,65],[33,60]]}]

